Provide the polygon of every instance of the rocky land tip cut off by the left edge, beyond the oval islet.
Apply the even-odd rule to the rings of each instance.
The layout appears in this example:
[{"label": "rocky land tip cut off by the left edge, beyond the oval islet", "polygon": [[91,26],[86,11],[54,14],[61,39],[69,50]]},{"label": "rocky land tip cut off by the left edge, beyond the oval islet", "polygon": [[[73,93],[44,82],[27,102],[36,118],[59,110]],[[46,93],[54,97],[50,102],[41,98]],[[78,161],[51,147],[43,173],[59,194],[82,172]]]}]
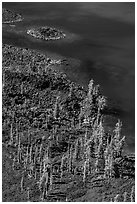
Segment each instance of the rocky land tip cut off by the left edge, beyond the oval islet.
[{"label": "rocky land tip cut off by the left edge, beyond the oval islet", "polygon": [[20,14],[5,8],[2,9],[2,23],[16,23],[22,20],[23,18]]}]

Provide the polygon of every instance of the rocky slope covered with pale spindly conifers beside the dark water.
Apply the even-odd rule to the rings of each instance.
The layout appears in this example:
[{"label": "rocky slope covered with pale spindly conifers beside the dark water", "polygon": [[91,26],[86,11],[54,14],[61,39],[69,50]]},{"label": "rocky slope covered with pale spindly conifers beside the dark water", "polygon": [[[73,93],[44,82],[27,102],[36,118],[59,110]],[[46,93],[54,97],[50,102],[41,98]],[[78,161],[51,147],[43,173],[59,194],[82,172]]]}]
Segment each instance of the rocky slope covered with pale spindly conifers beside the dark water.
[{"label": "rocky slope covered with pale spindly conifers beside the dark water", "polygon": [[2,54],[3,201],[133,202],[135,158],[120,120],[105,131],[99,85],[84,89],[54,69],[63,60],[28,48]]}]

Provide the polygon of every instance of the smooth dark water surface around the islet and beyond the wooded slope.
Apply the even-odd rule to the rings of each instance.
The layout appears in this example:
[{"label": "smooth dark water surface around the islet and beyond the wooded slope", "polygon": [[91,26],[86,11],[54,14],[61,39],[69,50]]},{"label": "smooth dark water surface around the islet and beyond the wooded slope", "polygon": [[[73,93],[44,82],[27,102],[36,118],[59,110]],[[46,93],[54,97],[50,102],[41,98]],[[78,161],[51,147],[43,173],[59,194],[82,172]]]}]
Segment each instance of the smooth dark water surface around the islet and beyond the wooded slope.
[{"label": "smooth dark water surface around the islet and beyond the wooded slope", "polygon": [[[87,85],[93,78],[123,121],[128,148],[135,142],[134,3],[3,3],[24,21],[3,28],[3,43],[50,51],[80,59],[73,80]],[[75,40],[44,42],[25,34],[31,26],[50,25],[73,33]],[[74,77],[75,76],[75,77]],[[110,120],[110,124],[114,121]]]}]

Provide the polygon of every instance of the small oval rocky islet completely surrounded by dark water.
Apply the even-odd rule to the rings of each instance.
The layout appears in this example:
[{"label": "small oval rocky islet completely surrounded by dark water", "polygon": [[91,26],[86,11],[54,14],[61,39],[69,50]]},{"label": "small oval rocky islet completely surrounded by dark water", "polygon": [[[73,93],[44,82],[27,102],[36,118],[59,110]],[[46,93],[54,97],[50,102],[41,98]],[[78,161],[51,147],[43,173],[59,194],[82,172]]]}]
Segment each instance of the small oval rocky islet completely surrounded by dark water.
[{"label": "small oval rocky islet completely surrounded by dark water", "polygon": [[31,35],[34,38],[42,40],[60,40],[66,37],[66,34],[63,31],[51,27],[40,27],[40,28],[31,28],[27,30],[27,34]]}]

